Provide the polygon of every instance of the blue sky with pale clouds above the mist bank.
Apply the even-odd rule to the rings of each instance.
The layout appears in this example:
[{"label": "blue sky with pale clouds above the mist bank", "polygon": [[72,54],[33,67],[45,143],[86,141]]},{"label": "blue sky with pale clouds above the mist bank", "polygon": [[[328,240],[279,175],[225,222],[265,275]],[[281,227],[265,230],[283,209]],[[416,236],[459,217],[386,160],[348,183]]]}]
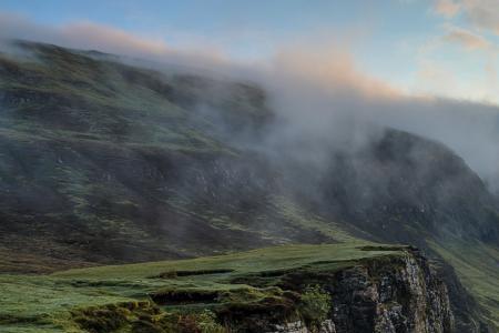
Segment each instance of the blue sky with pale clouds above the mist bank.
[{"label": "blue sky with pale clouds above the mist bank", "polygon": [[2,20],[245,63],[334,48],[405,93],[499,104],[499,0],[0,0]]}]

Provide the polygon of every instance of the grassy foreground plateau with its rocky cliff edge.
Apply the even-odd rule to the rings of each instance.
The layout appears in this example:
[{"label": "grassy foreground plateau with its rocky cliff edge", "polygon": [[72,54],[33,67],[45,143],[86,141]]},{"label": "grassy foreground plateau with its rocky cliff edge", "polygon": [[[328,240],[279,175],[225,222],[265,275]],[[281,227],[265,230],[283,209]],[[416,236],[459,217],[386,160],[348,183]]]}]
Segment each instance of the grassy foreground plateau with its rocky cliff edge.
[{"label": "grassy foreground plateau with its rocky cliff edge", "polygon": [[320,325],[324,332],[451,332],[454,325],[445,285],[417,252],[399,246],[286,245],[0,276],[0,330],[9,333],[308,332],[305,326]]}]

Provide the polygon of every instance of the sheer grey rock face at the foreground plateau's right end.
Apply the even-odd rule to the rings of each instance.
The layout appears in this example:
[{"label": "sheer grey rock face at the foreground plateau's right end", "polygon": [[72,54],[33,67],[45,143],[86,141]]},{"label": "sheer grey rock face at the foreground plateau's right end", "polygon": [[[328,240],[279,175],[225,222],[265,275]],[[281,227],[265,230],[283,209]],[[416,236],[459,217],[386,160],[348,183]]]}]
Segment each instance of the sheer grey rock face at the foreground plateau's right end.
[{"label": "sheer grey rock face at the foreground plateau's right end", "polygon": [[337,332],[452,332],[447,289],[415,252],[391,269],[373,262],[338,278],[332,316]]}]

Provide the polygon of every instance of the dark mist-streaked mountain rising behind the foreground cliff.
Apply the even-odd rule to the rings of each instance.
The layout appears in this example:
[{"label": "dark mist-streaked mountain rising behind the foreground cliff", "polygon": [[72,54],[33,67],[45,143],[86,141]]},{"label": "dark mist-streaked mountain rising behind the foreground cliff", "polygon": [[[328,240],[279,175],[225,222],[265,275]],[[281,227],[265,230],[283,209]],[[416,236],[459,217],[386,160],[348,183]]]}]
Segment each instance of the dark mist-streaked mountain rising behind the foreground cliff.
[{"label": "dark mist-streaked mountain rising behind the foreground cliff", "polygon": [[445,145],[376,129],[315,152],[277,135],[255,83],[16,44],[0,56],[0,271],[404,243],[435,260],[459,332],[498,326],[498,200]]}]

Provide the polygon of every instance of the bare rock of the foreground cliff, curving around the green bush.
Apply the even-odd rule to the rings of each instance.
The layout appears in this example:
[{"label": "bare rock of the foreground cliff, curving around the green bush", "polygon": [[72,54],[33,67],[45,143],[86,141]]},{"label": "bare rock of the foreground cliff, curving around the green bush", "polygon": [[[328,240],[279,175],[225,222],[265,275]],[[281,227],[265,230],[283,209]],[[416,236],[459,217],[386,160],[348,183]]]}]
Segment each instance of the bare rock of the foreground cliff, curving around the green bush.
[{"label": "bare rock of the foreground cliff, curving around the green bush", "polygon": [[282,281],[283,287],[320,285],[332,296],[328,320],[315,329],[299,320],[278,323],[267,332],[456,332],[447,287],[415,250],[370,259],[337,272],[295,272]]}]

